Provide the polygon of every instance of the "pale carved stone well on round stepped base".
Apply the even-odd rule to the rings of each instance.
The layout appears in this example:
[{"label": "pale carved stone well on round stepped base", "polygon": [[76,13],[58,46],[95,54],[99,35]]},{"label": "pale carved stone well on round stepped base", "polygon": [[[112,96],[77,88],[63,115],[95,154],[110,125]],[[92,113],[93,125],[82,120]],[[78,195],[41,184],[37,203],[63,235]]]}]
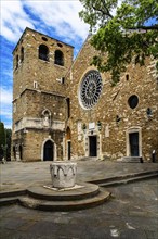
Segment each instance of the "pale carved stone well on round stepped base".
[{"label": "pale carved stone well on round stepped base", "polygon": [[73,188],[76,184],[77,163],[55,161],[50,165],[53,188]]}]

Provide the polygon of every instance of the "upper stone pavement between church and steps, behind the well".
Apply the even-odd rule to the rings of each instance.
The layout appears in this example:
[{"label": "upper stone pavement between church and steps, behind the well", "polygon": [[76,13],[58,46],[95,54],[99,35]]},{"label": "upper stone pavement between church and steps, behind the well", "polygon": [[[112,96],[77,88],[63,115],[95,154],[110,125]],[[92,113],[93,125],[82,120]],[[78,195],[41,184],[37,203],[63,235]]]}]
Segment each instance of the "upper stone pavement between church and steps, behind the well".
[{"label": "upper stone pavement between church and steps, behind the well", "polygon": [[[0,164],[1,191],[28,188],[36,181],[50,181],[51,162],[8,162]],[[91,181],[158,169],[158,163],[120,163],[111,161],[77,161],[77,180]]]}]

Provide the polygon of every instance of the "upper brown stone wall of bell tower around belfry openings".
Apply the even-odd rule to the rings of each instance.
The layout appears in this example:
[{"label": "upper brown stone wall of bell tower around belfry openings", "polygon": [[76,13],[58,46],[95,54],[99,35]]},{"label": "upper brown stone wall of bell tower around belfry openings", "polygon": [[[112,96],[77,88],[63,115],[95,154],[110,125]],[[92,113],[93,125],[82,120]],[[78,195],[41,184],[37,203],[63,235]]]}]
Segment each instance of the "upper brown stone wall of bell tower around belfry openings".
[{"label": "upper brown stone wall of bell tower around belfry openings", "polygon": [[[47,38],[47,41],[42,38]],[[49,49],[49,61],[39,59],[39,46],[44,45]],[[21,61],[21,49],[24,48],[24,60]],[[64,66],[54,63],[54,52],[60,50],[64,55]],[[13,71],[14,71],[14,92],[13,99],[26,88],[35,88],[34,81],[37,83],[37,89],[63,93],[65,85],[57,79],[65,77],[67,70],[73,63],[74,48],[69,45],[60,42],[35,30],[26,28],[13,52]],[[16,67],[16,58],[18,55],[18,67]]]}]

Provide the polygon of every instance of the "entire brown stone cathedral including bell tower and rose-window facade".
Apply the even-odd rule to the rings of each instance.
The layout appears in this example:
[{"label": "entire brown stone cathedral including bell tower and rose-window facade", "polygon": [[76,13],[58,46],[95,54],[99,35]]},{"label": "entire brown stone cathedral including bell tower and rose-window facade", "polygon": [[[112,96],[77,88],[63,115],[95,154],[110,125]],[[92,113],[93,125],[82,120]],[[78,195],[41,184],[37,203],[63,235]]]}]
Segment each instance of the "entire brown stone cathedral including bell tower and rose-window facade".
[{"label": "entire brown stone cathedral including bell tower and rose-window facade", "polygon": [[91,65],[90,38],[74,60],[73,46],[24,30],[13,51],[13,160],[148,161],[158,153],[155,61],[129,64],[113,87],[110,74]]}]

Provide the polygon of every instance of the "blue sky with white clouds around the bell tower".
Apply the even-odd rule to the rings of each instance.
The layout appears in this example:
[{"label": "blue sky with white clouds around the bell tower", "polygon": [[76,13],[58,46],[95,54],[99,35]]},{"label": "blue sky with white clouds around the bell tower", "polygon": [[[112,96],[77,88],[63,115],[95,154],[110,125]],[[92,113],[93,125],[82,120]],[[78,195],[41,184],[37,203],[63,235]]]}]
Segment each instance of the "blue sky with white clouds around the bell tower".
[{"label": "blue sky with white clouds around the bell tower", "polygon": [[79,52],[89,26],[79,18],[79,0],[0,0],[0,121],[12,128],[12,52],[26,27],[75,47]]}]

